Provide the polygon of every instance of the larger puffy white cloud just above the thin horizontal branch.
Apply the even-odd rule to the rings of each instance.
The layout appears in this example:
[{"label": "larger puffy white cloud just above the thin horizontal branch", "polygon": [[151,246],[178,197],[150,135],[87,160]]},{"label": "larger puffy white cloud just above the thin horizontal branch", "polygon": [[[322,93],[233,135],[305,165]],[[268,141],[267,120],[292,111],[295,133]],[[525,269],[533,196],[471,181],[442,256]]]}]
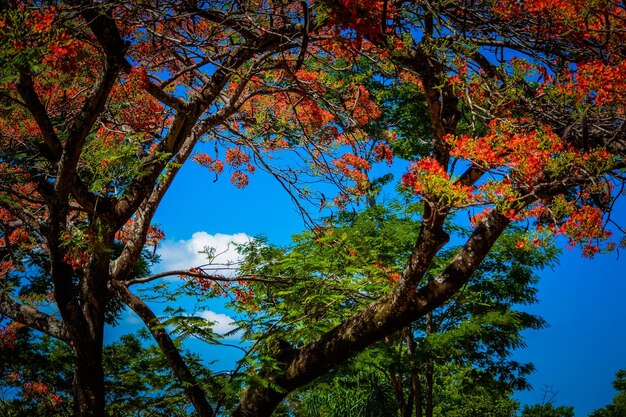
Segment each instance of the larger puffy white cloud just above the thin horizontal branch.
[{"label": "larger puffy white cloud just above the thin horizontal branch", "polygon": [[[251,240],[252,238],[245,233],[211,235],[207,232],[196,232],[188,240],[176,242],[165,240],[158,249],[161,255],[158,269],[161,271],[190,269],[211,263],[217,268],[225,268],[216,273],[233,275],[234,271],[229,273],[226,267],[228,264],[235,263],[239,258],[233,243],[242,244]],[[207,253],[202,253],[207,249],[212,251],[212,259]]]}]

